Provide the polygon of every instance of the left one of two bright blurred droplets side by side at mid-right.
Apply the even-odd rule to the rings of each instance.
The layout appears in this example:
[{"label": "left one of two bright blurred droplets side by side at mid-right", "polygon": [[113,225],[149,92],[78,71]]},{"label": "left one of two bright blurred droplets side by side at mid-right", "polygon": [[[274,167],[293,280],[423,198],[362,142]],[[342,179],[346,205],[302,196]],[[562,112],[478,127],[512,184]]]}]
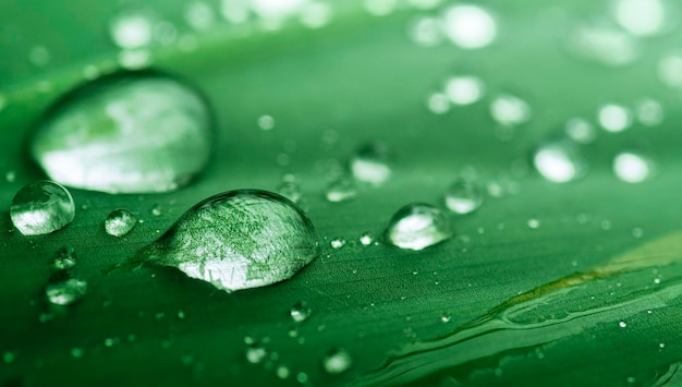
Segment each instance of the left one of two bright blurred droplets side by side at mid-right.
[{"label": "left one of two bright blurred droplets side by side at mid-right", "polygon": [[555,183],[573,181],[587,170],[579,149],[568,141],[541,145],[533,156],[533,165],[545,179]]}]

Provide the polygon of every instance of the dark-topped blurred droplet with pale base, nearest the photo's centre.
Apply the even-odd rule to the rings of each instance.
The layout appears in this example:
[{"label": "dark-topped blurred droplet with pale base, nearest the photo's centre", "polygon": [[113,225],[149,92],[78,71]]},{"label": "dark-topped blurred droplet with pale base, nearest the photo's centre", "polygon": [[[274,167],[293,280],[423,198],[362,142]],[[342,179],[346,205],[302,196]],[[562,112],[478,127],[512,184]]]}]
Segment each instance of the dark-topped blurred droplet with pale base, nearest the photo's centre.
[{"label": "dark-topped blurred droplet with pale base, nearest the photo's centre", "polygon": [[362,182],[380,185],[391,177],[389,152],[382,143],[367,143],[351,157],[353,177]]}]

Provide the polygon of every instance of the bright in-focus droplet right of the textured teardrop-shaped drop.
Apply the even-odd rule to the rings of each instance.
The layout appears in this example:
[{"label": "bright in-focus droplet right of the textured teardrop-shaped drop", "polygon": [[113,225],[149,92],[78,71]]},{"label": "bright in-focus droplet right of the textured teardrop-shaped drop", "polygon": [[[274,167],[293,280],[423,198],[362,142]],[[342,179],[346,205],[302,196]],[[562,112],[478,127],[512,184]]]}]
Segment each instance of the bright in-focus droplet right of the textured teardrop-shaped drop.
[{"label": "bright in-focus droplet right of the textured teardrop-shaped drop", "polygon": [[448,217],[437,207],[414,203],[399,209],[389,221],[386,239],[406,250],[424,250],[452,237]]}]

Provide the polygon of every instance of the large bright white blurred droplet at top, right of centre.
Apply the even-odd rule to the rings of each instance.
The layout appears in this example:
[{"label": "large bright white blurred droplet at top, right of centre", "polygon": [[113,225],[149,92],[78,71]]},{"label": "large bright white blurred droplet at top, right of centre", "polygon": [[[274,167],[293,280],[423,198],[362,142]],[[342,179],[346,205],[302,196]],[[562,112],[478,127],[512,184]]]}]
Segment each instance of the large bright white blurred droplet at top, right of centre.
[{"label": "large bright white blurred droplet at top, right of centre", "polygon": [[484,8],[474,4],[456,4],[443,14],[443,31],[450,40],[464,49],[483,48],[497,36],[497,23]]}]

